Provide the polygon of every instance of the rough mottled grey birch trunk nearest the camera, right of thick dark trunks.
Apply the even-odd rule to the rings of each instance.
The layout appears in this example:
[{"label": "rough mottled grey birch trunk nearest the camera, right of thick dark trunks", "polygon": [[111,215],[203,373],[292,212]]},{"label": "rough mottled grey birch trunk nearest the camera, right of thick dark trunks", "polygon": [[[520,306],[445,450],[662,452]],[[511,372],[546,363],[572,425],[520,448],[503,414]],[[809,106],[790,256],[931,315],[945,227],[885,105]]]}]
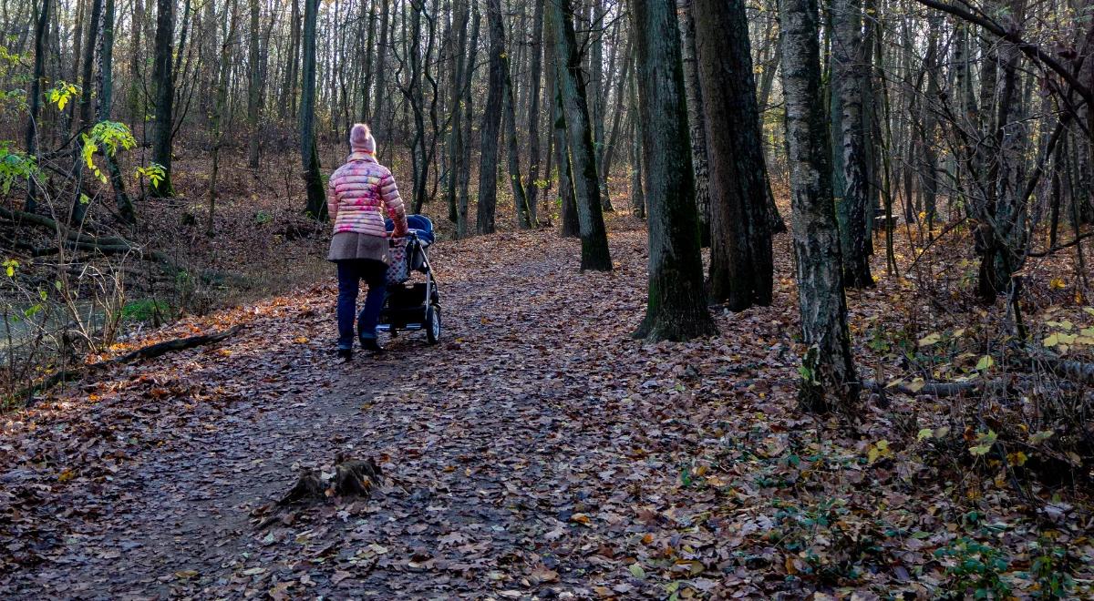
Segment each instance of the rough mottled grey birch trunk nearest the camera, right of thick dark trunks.
[{"label": "rough mottled grey birch trunk nearest the camera, right of thick dark trunks", "polygon": [[782,0],[782,89],[790,146],[792,232],[802,338],[811,346],[800,400],[811,410],[858,399],[847,328],[839,231],[833,207],[828,133],[821,96],[816,0]]}]

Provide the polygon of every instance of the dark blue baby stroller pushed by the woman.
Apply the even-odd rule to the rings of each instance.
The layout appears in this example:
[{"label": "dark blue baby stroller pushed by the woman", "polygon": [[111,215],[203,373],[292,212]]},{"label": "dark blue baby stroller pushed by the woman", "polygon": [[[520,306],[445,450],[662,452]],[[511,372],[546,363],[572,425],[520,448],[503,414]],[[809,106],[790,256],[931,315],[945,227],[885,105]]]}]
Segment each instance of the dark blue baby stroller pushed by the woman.
[{"label": "dark blue baby stroller pushed by the woman", "polygon": [[[386,225],[388,232],[395,229],[392,220]],[[400,330],[426,330],[426,340],[437,344],[441,339],[441,295],[426,250],[433,244],[433,223],[424,215],[407,215],[407,226],[406,237],[389,238],[387,295],[376,331],[397,335]],[[409,283],[416,271],[424,274],[424,282]]]}]

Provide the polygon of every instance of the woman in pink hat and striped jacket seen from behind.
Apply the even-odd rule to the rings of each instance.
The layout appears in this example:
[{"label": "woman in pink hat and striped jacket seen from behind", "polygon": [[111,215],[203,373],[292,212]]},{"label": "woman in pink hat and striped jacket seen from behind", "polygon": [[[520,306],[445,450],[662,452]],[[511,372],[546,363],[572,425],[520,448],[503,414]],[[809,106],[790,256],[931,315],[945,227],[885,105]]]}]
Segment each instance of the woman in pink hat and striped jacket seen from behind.
[{"label": "woman in pink hat and striped jacket seen from behind", "polygon": [[349,133],[352,151],[346,164],[330,176],[327,209],[335,224],[327,260],[338,266],[338,356],[353,356],[353,315],[361,280],[369,285],[364,308],[358,315],[361,347],[379,353],[376,320],[387,286],[387,229],[384,214],[395,222],[396,237],[407,234],[407,215],[395,178],[376,162],[376,141],[369,126],[357,123]]}]

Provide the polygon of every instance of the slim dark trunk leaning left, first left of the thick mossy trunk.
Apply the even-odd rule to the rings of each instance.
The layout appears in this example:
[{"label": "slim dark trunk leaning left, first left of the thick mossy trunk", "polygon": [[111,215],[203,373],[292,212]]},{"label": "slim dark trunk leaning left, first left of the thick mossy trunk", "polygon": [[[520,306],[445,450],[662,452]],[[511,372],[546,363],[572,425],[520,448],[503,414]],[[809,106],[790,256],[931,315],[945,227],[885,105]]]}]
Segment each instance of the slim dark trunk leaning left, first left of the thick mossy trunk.
[{"label": "slim dark trunk leaning left, first left of the thick mossy trunk", "polygon": [[556,79],[563,107],[570,173],[581,231],[581,270],[612,271],[596,173],[596,150],[578,54],[578,36],[573,30],[573,9],[569,0],[558,0],[548,2],[546,10],[555,34]]}]

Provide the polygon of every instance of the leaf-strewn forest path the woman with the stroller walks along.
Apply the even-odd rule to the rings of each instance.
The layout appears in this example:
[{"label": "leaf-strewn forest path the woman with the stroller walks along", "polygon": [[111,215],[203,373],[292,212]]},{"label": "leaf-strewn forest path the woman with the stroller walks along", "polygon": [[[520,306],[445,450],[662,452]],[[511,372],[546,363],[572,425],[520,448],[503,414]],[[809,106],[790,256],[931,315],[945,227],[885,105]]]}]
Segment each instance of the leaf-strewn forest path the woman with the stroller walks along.
[{"label": "leaf-strewn forest path the woman with the stroller walks along", "polygon": [[[230,311],[243,334],[89,386],[91,404],[39,410],[51,434],[11,456],[47,459],[0,472],[19,510],[0,545],[15,540],[24,565],[0,597],[665,594],[636,555],[714,549],[717,528],[689,517],[705,506],[672,500],[687,458],[714,444],[700,424],[729,410],[697,400],[758,379],[701,367],[724,345],[627,338],[643,237],[613,236],[607,274],[578,273],[577,244],[549,232],[442,243],[439,345],[411,333],[338,364],[324,285]],[[254,528],[294,466],[329,469],[338,451],[376,458],[391,485]],[[714,586],[680,565],[695,590]]]}]

